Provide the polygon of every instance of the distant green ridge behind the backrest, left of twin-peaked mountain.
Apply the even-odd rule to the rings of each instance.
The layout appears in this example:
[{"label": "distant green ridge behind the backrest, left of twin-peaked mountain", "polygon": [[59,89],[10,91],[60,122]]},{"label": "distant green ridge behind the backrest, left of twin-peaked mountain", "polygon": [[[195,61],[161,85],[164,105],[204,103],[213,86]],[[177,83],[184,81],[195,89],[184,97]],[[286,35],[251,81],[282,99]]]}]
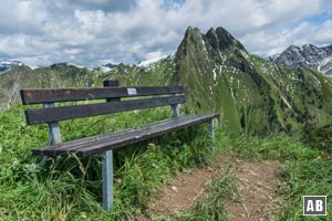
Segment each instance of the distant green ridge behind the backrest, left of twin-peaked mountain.
[{"label": "distant green ridge behind the backrest, left of twin-peaked mountain", "polygon": [[101,87],[103,80],[115,78],[122,85],[169,85],[174,66],[172,56],[143,67],[120,64],[108,72],[66,63],[37,70],[15,66],[0,74],[0,110],[21,102],[21,88]]}]

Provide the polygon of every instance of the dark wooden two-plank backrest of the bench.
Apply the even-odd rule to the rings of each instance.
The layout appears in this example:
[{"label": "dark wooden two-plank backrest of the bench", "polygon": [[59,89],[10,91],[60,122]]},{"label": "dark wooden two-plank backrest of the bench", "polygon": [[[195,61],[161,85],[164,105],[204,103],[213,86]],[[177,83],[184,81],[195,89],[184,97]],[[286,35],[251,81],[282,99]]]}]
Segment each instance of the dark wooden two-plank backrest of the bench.
[{"label": "dark wooden two-plank backrest of the bench", "polygon": [[[20,93],[24,105],[44,104],[44,108],[25,110],[27,124],[29,125],[56,123],[65,119],[158,106],[173,106],[186,102],[185,96],[183,95],[183,86],[108,86],[100,88],[22,90]],[[136,97],[136,99],[121,101],[123,97]],[[108,102],[54,106],[54,103],[104,98]]]}]

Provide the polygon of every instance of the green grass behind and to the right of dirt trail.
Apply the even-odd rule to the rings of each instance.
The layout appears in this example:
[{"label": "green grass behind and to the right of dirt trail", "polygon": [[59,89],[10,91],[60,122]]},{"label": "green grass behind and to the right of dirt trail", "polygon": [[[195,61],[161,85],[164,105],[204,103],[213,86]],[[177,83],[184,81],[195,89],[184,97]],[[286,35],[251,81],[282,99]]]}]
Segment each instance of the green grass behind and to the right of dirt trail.
[{"label": "green grass behind and to the right of dirt trail", "polygon": [[[227,137],[225,134],[219,134]],[[332,161],[324,148],[304,145],[300,139],[286,135],[270,135],[267,138],[238,137],[221,138],[224,152],[231,152],[249,161],[268,159],[279,160],[283,168],[279,173],[281,185],[278,191],[278,202],[281,209],[276,220],[332,220]],[[214,189],[214,188],[212,188]],[[303,196],[326,196],[328,217],[303,217]]]}]

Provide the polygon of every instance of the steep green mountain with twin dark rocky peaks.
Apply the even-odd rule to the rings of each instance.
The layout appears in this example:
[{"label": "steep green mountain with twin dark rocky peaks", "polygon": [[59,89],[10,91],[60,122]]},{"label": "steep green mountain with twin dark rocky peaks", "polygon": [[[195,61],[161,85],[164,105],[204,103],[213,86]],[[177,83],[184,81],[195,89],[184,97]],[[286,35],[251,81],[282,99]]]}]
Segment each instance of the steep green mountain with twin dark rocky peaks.
[{"label": "steep green mountain with twin dark rocky peaks", "polygon": [[175,61],[173,84],[187,87],[191,109],[220,113],[231,131],[263,135],[331,120],[330,78],[251,55],[222,28],[188,28]]}]

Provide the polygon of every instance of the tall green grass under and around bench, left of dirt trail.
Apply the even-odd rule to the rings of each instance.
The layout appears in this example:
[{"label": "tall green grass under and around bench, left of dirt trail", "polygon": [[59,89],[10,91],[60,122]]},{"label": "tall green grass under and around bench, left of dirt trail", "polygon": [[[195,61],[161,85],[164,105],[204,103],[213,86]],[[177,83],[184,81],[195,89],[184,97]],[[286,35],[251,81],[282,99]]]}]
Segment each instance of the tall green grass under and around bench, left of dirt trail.
[{"label": "tall green grass under and around bench, left of dirt trail", "polygon": [[[61,124],[63,140],[143,126],[169,117],[169,108],[92,117]],[[0,113],[1,220],[133,220],[176,171],[210,160],[205,125],[114,152],[114,207],[103,211],[102,156],[43,161],[30,149],[45,146],[45,126],[27,126],[23,109]]]}]

